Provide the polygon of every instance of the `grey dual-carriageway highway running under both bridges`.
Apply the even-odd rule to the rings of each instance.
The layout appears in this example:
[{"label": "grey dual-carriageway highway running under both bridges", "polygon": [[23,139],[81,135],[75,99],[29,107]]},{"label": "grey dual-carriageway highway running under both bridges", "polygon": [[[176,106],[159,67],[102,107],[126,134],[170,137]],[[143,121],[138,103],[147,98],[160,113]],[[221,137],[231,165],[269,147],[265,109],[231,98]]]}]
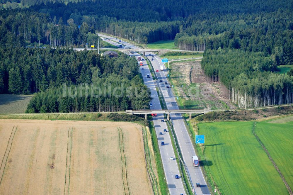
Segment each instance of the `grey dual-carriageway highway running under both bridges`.
[{"label": "grey dual-carriageway highway running under both bridges", "polygon": [[[98,34],[98,35],[101,36],[101,37],[108,38],[108,39],[110,39],[110,41],[115,39],[115,38],[111,38],[109,36],[102,35],[102,34]],[[131,47],[133,49],[137,48],[136,46],[131,45],[129,43],[126,43],[124,41],[121,44],[127,45],[128,47]],[[149,56],[149,53],[151,54],[150,56]],[[161,62],[161,58],[159,56],[155,55],[154,53],[151,53],[151,52],[146,52],[146,56],[150,60],[151,60],[151,57],[154,56],[154,61],[151,62],[152,66],[154,67],[155,70],[156,69],[160,70],[160,65],[163,65],[163,63]],[[144,63],[145,63],[145,61],[144,61]],[[150,74],[150,72],[149,72],[149,69],[147,68],[147,66],[144,65],[144,68],[146,68],[146,69],[141,70],[143,78],[144,78],[144,83],[151,89],[152,95],[155,94],[154,99],[152,100],[153,106],[151,107],[151,109],[156,109],[156,110],[161,109],[159,99],[157,97],[157,92],[156,92],[156,89],[154,87],[155,83],[154,83],[153,79],[151,79],[151,78],[147,79],[146,78],[146,74]],[[164,96],[164,100],[166,102],[167,108],[170,109],[170,110],[178,110],[179,108],[178,108],[178,105],[176,103],[176,100],[175,100],[175,97],[174,97],[174,95],[172,93],[171,88],[166,88],[166,85],[170,86],[170,84],[168,83],[168,80],[166,78],[166,75],[168,74],[168,72],[166,70],[166,67],[164,66],[164,71],[155,72],[155,74],[156,74],[156,76],[158,77],[159,80],[163,80],[163,82],[159,82],[159,81],[155,81],[155,82],[156,82],[156,85],[158,85],[160,87],[160,89],[161,89],[161,91],[163,93],[162,95]],[[167,82],[167,84],[164,84],[164,82]],[[179,143],[179,147],[180,147],[181,154],[182,154],[182,157],[183,157],[183,161],[185,162],[185,165],[187,167],[187,171],[188,171],[189,177],[191,179],[192,186],[195,189],[195,193],[197,195],[210,194],[209,189],[207,187],[207,184],[205,182],[204,176],[202,174],[201,168],[193,166],[192,156],[196,155],[196,154],[195,154],[195,150],[193,148],[192,141],[191,141],[191,139],[190,139],[190,137],[188,135],[188,131],[186,129],[186,126],[185,126],[185,123],[183,121],[183,118],[182,118],[181,114],[170,114],[170,117],[171,117],[171,120],[172,120],[172,123],[173,123],[173,126],[174,126],[175,134],[176,134],[177,139],[178,139],[178,143]],[[158,131],[160,132],[162,130],[162,128],[165,128],[165,126],[166,126],[166,124],[160,122],[162,118],[163,118],[163,116],[159,115],[159,114],[158,114],[157,117],[154,117],[156,133],[158,133]],[[161,127],[161,126],[164,126],[164,127]],[[162,139],[162,138],[159,136],[159,133],[157,135],[158,135],[159,145],[161,146],[161,144],[160,144],[161,140],[160,139]],[[168,136],[168,141],[167,141],[166,138],[167,138],[167,136],[164,137],[164,140],[165,140],[166,143],[168,143],[170,141],[170,137]],[[165,146],[168,146],[168,145],[165,145]],[[160,151],[161,151],[162,160],[163,160],[163,158],[166,158],[166,157],[168,158],[168,155],[171,154],[171,153],[168,153],[168,155],[166,155],[166,152],[163,152],[161,150],[161,148],[160,148]],[[168,152],[172,152],[172,155],[174,155],[172,147],[170,148],[170,151],[168,150]],[[167,183],[169,185],[170,182],[168,181],[168,179],[172,179],[172,178],[170,178],[172,176],[172,174],[173,174],[173,177],[174,177],[174,175],[175,175],[173,173],[174,170],[173,171],[171,170],[171,173],[170,173],[169,172],[170,170],[168,170],[168,167],[166,166],[166,162],[164,162],[164,160],[163,160],[163,165],[164,165],[164,170],[165,170],[165,174],[166,174],[166,178],[167,178]],[[178,170],[177,164],[176,164],[176,167],[177,167],[177,170]],[[179,172],[177,172],[176,174],[179,174]],[[201,187],[200,188],[195,187],[196,183],[200,183]],[[176,188],[178,188],[177,185],[176,185]],[[172,188],[169,187],[169,191],[171,192]],[[171,194],[172,194],[172,192],[171,192]]]}]

